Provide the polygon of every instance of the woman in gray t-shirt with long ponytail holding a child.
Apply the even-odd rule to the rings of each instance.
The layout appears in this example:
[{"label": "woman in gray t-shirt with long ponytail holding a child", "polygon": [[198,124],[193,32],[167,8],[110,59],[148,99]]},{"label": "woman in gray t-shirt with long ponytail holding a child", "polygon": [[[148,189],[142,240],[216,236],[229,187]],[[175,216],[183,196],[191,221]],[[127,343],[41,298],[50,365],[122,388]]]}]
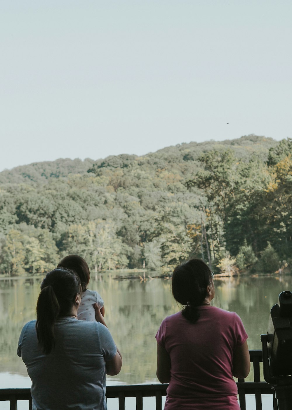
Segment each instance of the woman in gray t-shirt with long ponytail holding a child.
[{"label": "woman in gray t-shirt with long ponytail holding a child", "polygon": [[95,304],[98,321],[81,321],[78,276],[59,268],[47,273],[37,319],[20,334],[17,354],[27,366],[33,410],[106,410],[106,374],[121,370],[122,358]]}]

